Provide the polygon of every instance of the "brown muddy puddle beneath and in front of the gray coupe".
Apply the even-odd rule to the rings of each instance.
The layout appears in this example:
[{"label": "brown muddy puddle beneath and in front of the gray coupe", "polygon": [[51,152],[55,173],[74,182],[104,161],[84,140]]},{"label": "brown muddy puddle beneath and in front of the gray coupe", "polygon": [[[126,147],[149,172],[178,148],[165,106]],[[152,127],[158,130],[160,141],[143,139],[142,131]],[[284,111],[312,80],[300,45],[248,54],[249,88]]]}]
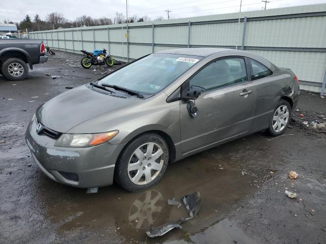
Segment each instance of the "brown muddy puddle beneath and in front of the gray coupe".
[{"label": "brown muddy puddle beneath and in front of the gray coupe", "polygon": [[[40,211],[44,219],[64,239],[82,231],[94,234],[88,239],[112,242],[195,241],[205,231],[222,231],[223,223],[228,221],[227,211],[271,177],[270,170],[244,171],[222,159],[214,159],[213,155],[210,151],[208,156],[202,153],[169,165],[159,184],[138,193],[125,192],[114,185],[100,188],[97,194],[86,194],[85,189],[60,185],[40,173],[41,191],[34,199],[42,203]],[[146,236],[150,226],[187,217],[184,206],[168,205],[167,200],[181,201],[182,195],[195,191],[202,198],[196,219],[162,237]]]}]

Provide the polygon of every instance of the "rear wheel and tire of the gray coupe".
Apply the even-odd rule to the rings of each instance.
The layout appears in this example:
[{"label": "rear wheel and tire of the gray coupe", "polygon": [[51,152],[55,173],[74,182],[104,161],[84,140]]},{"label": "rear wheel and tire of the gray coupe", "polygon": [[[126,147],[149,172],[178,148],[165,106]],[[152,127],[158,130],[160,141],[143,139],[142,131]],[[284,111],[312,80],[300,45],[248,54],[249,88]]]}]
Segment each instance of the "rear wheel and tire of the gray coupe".
[{"label": "rear wheel and tire of the gray coupe", "polygon": [[291,105],[281,99],[273,112],[267,132],[271,136],[281,135],[290,123]]}]

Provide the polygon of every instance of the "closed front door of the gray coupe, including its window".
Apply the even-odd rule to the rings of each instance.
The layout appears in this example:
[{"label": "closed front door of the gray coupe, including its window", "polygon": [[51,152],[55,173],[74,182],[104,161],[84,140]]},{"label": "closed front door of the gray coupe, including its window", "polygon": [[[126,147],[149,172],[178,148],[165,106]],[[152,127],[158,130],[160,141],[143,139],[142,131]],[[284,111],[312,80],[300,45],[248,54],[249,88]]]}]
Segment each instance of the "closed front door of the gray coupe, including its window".
[{"label": "closed front door of the gray coupe, including its window", "polygon": [[[255,112],[256,90],[243,57],[213,60],[184,86],[205,89],[195,100],[197,117],[180,101],[181,151],[189,151],[247,132]],[[182,89],[187,87],[182,87]]]}]

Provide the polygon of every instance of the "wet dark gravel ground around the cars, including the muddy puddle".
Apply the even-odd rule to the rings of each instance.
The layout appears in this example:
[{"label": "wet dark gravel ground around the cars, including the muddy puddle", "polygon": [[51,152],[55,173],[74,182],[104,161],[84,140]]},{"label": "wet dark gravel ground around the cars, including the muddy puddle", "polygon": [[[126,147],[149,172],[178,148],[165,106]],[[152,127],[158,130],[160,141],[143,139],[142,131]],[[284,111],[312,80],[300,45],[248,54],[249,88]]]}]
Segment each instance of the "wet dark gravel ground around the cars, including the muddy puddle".
[{"label": "wet dark gravel ground around the cars, including the muddy puddle", "polygon": [[[326,135],[295,124],[284,136],[256,133],[169,165],[156,186],[138,193],[114,185],[86,194],[47,178],[24,141],[33,113],[66,86],[110,71],[85,70],[81,56],[56,53],[28,79],[0,76],[0,243],[326,243]],[[326,99],[304,93],[298,108],[326,115]],[[187,216],[167,200],[195,191],[196,219],[146,236],[149,226]]]}]

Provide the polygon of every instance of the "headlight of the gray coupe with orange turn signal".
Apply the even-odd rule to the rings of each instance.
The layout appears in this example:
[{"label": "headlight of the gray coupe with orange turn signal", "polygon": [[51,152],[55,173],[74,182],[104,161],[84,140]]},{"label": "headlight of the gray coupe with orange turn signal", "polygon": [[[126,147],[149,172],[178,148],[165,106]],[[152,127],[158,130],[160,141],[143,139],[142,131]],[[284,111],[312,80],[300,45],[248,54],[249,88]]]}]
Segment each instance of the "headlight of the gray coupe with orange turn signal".
[{"label": "headlight of the gray coupe with orange turn signal", "polygon": [[110,131],[96,134],[62,134],[55,146],[86,147],[95,146],[110,141],[119,131]]}]

